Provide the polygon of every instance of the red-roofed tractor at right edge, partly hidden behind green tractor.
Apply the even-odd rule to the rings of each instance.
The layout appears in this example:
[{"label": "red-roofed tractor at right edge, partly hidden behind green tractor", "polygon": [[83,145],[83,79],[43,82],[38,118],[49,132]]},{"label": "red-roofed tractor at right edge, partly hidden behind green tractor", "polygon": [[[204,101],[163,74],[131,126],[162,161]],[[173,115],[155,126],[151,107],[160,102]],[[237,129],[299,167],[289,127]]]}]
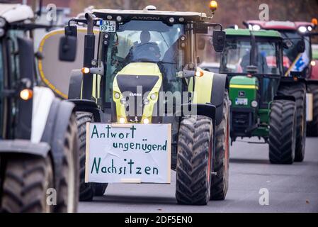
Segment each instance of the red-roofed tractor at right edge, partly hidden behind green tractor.
[{"label": "red-roofed tractor at right edge, partly hidden behind green tractor", "polygon": [[[281,33],[284,41],[285,77],[302,80],[307,89],[306,115],[307,135],[318,136],[318,61],[312,55],[311,38],[317,27],[317,18],[312,22],[305,21],[244,21],[250,30],[276,30]],[[305,51],[300,51],[304,50]],[[301,93],[301,86],[286,88],[290,94]],[[306,99],[305,99],[306,100]],[[300,102],[300,101],[299,101]],[[306,126],[302,127],[304,130]]]}]

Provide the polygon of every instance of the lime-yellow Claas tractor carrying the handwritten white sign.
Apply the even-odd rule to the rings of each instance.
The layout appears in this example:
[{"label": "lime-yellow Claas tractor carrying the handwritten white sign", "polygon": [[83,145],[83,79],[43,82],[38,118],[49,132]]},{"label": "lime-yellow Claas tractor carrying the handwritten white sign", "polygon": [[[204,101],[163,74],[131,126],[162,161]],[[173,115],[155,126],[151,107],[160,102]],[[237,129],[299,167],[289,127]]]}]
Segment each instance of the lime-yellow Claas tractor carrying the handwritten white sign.
[{"label": "lime-yellow Claas tractor carrying the handwritten white sign", "polygon": [[[214,11],[215,4],[210,9]],[[225,199],[229,177],[227,76],[197,67],[195,45],[197,35],[218,27],[213,31],[214,48],[223,50],[225,32],[220,24],[209,23],[209,18],[205,13],[157,11],[147,6],[136,11],[93,10],[85,19],[69,22],[66,36],[60,40],[59,60],[74,60],[76,26],[72,21],[87,25],[84,67],[72,71],[68,94],[76,104],[79,126],[81,200],[103,195],[107,186],[84,182],[87,122],[171,124],[171,169],[176,170],[178,203]],[[98,43],[94,27],[99,28]],[[176,99],[166,101],[161,96],[165,92],[188,99],[179,104]],[[137,101],[140,96],[142,101]],[[158,114],[169,104],[173,108]],[[133,107],[135,111],[131,111]],[[185,108],[196,113],[186,114]]]}]

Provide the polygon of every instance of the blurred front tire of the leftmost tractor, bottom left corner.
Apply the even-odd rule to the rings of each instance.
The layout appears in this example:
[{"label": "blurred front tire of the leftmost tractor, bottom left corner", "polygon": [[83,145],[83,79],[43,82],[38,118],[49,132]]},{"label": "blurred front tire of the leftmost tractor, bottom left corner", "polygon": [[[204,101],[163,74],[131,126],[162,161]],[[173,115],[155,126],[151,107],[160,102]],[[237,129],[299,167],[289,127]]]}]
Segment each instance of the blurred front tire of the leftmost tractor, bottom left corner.
[{"label": "blurred front tire of the leftmost tractor, bottom left corner", "polygon": [[9,157],[6,161],[1,208],[9,213],[51,213],[47,189],[54,188],[50,157]]}]

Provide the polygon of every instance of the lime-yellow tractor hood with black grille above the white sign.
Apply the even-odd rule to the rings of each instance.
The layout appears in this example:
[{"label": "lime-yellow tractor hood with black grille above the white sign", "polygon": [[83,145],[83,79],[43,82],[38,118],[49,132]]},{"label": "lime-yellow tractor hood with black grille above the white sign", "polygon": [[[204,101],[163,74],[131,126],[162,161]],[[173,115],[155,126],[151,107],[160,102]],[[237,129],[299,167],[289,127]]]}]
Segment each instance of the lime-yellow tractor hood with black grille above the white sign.
[{"label": "lime-yellow tractor hood with black grille above the white sign", "polygon": [[[152,121],[154,105],[162,84],[162,74],[156,63],[134,62],[123,68],[113,81],[113,101],[117,121]],[[154,95],[153,95],[154,94]],[[151,96],[156,98],[150,98]]]}]

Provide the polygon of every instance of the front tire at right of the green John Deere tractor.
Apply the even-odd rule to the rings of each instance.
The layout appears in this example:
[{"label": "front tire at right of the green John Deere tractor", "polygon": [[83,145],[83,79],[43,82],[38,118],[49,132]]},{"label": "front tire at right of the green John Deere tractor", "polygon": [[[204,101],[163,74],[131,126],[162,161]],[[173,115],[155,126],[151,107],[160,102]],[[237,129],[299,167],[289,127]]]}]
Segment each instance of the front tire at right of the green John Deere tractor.
[{"label": "front tire at right of the green John Deere tractor", "polygon": [[295,101],[272,102],[268,140],[271,163],[293,163],[296,148],[296,118]]}]

